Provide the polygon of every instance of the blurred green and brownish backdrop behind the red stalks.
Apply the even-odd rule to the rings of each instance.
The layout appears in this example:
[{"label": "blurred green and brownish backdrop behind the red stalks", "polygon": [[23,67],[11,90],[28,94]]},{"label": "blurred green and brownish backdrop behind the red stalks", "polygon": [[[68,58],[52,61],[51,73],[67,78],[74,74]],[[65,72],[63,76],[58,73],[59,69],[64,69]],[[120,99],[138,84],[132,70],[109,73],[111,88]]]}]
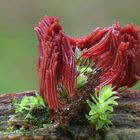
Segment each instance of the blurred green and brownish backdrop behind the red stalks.
[{"label": "blurred green and brownish backdrop behind the red stalks", "polygon": [[140,25],[140,0],[0,0],[0,93],[38,90],[34,27],[44,15],[82,36],[115,21]]}]

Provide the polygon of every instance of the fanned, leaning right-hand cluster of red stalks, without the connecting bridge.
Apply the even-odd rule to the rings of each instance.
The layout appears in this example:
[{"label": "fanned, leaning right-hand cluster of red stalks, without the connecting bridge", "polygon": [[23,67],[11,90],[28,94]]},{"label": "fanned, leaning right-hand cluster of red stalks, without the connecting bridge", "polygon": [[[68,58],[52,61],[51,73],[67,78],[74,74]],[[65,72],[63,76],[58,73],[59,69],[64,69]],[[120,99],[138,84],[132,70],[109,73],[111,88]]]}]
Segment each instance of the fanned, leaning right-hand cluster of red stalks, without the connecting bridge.
[{"label": "fanned, leaning right-hand cluster of red stalks, without the connecting bridge", "polygon": [[114,24],[83,57],[96,60],[96,67],[102,68],[100,86],[133,86],[140,79],[140,28]]}]

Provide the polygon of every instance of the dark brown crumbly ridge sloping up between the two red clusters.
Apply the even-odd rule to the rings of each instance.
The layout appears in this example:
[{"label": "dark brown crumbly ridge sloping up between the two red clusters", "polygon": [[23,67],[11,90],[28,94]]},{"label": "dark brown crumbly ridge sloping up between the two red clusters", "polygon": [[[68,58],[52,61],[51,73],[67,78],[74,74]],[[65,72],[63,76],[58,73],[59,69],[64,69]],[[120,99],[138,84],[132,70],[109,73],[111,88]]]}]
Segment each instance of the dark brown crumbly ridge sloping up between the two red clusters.
[{"label": "dark brown crumbly ridge sloping up between the two red clusters", "polygon": [[90,98],[90,93],[94,93],[95,87],[99,85],[98,74],[99,72],[96,72],[96,74],[88,77],[87,85],[82,87],[80,91],[77,91],[76,98],[71,100],[61,109],[60,113],[58,114],[59,123],[69,125],[68,123],[72,119],[76,118],[79,112],[84,109],[86,100]]}]

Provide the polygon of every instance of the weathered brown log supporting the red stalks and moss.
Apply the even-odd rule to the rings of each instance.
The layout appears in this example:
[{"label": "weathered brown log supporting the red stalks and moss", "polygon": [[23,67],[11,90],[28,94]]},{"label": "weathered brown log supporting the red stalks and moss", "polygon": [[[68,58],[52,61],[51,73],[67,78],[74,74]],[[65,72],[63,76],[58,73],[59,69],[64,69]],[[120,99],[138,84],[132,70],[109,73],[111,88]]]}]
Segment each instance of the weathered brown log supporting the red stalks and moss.
[{"label": "weathered brown log supporting the red stalks and moss", "polygon": [[70,124],[68,127],[52,126],[29,130],[6,132],[9,123],[15,125],[32,124],[26,120],[9,120],[14,115],[14,98],[33,96],[35,91],[0,95],[0,140],[140,140],[140,91],[131,90],[120,93],[119,105],[115,108],[110,129],[95,132],[88,123]]}]

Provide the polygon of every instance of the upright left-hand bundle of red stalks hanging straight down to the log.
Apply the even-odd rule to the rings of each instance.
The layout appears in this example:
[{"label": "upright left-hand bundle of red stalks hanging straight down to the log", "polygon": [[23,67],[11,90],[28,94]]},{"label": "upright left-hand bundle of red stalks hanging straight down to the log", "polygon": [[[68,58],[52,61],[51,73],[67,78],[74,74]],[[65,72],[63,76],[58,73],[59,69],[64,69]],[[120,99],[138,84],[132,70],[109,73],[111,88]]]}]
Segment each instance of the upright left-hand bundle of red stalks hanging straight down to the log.
[{"label": "upright left-hand bundle of red stalks hanging straight down to the log", "polygon": [[75,95],[74,52],[57,18],[45,17],[35,30],[39,40],[40,93],[50,109],[58,109],[61,106],[61,102],[58,100],[59,84],[65,87],[70,97]]}]

